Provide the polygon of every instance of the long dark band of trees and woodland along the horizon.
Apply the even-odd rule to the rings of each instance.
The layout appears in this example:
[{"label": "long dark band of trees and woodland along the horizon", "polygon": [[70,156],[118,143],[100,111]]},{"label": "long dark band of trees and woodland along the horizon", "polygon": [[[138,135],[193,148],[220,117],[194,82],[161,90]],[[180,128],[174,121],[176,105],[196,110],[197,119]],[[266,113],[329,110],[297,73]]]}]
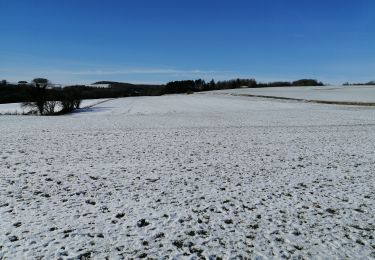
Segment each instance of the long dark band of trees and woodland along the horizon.
[{"label": "long dark band of trees and woodland along the horizon", "polygon": [[[46,82],[41,88],[36,82]],[[108,88],[99,87],[108,84]],[[95,87],[98,85],[98,87]],[[55,87],[47,79],[34,79],[31,82],[19,81],[17,84],[6,80],[0,81],[0,104],[37,102],[40,99],[50,101],[82,100],[99,98],[118,98],[130,96],[160,96],[165,94],[193,93],[200,91],[235,89],[235,88],[264,88],[276,86],[323,86],[322,82],[314,79],[301,79],[293,82],[258,83],[255,79],[234,79],[215,82],[198,80],[173,81],[165,85],[129,84],[113,81],[99,81],[93,86],[72,85]]]}]

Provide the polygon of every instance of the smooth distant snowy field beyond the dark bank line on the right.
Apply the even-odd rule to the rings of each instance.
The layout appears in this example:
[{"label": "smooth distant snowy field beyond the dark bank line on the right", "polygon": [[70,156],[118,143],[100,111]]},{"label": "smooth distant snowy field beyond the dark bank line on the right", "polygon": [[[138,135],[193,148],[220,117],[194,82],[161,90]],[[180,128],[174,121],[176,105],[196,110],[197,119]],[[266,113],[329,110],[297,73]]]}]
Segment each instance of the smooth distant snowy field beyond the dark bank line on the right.
[{"label": "smooth distant snowy field beyond the dark bank line on the right", "polygon": [[375,86],[274,87],[220,90],[218,93],[261,95],[307,100],[375,103]]}]

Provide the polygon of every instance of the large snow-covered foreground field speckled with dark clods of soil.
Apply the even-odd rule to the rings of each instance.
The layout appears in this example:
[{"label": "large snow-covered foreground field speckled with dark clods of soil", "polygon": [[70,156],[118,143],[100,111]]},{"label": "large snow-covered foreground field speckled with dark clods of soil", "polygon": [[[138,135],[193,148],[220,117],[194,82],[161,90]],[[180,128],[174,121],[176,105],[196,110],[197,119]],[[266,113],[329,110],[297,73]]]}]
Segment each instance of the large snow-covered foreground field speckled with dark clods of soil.
[{"label": "large snow-covered foreground field speckled with dark clods of soil", "polygon": [[375,258],[374,107],[124,98],[0,133],[0,259]]}]

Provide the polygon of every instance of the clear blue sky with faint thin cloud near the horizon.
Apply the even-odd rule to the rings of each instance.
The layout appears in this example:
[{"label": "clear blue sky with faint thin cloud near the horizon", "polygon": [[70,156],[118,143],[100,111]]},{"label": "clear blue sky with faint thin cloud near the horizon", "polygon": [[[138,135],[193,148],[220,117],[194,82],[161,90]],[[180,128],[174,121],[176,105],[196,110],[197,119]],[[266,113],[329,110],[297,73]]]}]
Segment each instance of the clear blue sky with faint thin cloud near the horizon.
[{"label": "clear blue sky with faint thin cloud near the horizon", "polygon": [[375,80],[374,0],[0,0],[0,79]]}]

